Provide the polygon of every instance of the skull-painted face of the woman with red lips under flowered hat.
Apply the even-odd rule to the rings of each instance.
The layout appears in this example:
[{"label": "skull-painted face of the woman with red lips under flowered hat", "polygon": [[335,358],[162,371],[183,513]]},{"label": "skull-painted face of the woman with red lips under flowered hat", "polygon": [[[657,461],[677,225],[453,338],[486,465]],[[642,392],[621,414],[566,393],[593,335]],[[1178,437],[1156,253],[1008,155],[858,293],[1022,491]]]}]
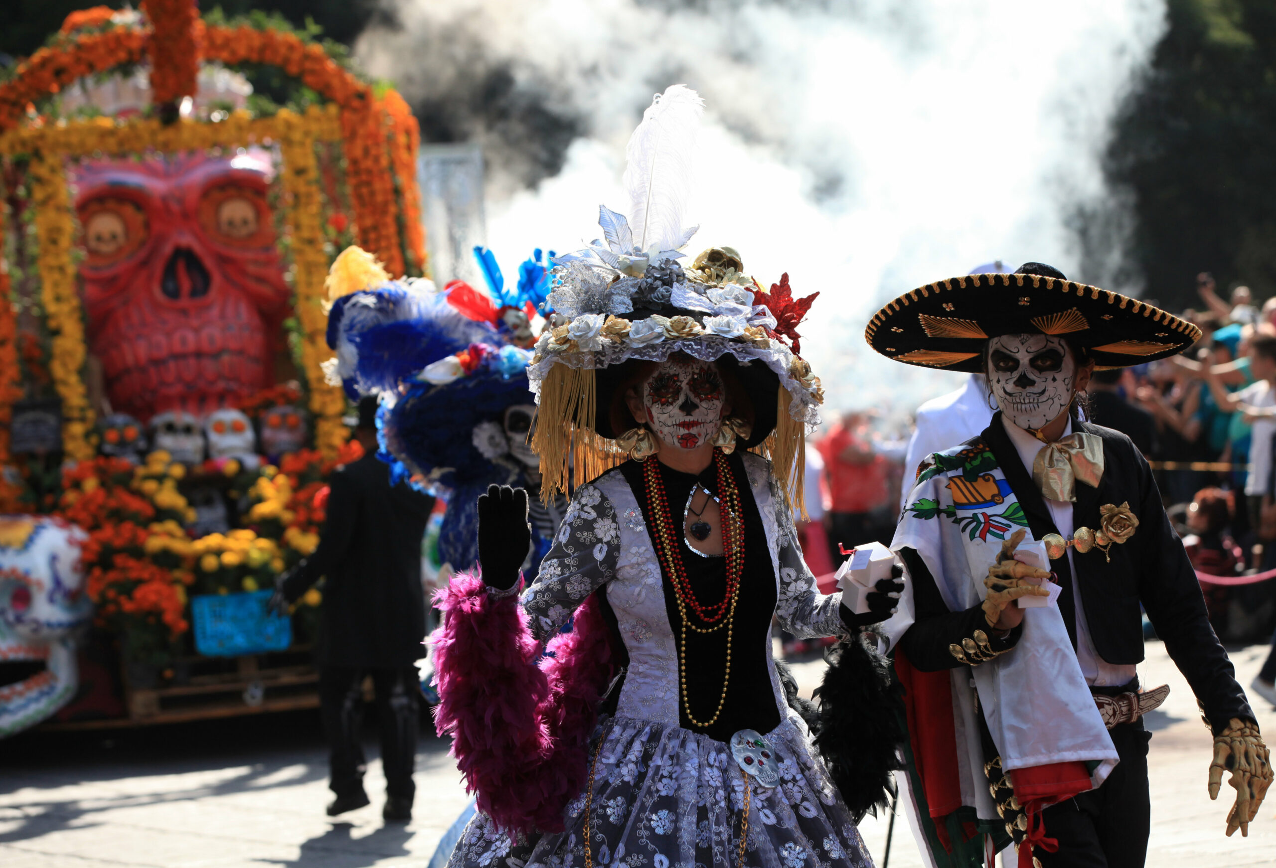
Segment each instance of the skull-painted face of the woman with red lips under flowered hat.
[{"label": "skull-painted face of the woman with red lips under flowered hat", "polygon": [[643,385],[647,423],[661,440],[679,449],[708,443],[722,425],[726,389],[711,361],[670,359]]}]

